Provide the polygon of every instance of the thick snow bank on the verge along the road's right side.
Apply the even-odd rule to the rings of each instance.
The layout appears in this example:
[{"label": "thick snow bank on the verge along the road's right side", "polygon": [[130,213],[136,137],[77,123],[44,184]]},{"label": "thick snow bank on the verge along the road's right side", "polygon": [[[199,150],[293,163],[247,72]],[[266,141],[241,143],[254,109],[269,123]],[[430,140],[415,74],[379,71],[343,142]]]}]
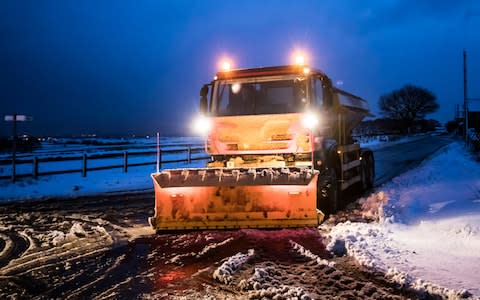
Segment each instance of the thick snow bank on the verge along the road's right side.
[{"label": "thick snow bank on the verge along the road's right side", "polygon": [[480,298],[480,164],[460,143],[362,203],[380,221],[337,224],[330,251],[346,252],[420,293]]}]

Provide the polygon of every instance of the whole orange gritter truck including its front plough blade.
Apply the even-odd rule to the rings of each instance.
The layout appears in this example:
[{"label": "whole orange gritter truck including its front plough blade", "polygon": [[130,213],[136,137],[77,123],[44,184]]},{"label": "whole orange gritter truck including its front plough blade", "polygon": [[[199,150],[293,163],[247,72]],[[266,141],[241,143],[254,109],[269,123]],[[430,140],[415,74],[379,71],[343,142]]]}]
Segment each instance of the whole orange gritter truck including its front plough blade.
[{"label": "whole orange gritter truck including its front plough blade", "polygon": [[374,182],[351,131],[367,102],[306,65],[222,70],[200,91],[195,129],[211,161],[152,174],[158,232],[317,226]]}]

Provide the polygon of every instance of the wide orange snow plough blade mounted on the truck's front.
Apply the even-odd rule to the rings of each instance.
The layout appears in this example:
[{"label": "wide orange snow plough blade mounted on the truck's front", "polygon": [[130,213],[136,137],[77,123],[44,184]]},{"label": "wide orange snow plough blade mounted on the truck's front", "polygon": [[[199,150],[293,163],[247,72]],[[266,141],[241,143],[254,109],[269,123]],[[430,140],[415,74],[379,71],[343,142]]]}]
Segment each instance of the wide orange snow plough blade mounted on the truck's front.
[{"label": "wide orange snow plough blade mounted on the truck's front", "polygon": [[185,169],[152,174],[157,231],[317,226],[318,171]]}]

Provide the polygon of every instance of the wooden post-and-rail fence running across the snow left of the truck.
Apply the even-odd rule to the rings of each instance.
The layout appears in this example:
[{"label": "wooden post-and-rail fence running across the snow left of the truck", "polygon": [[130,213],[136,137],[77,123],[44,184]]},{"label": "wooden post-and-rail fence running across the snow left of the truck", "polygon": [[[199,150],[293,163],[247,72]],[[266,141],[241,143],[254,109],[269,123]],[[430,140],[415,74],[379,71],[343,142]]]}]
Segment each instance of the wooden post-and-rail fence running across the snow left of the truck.
[{"label": "wooden post-and-rail fence running across the snow left of the truck", "polygon": [[[177,149],[170,149],[170,150],[160,150],[160,168],[163,164],[167,163],[187,163],[190,164],[192,161],[196,160],[207,160],[210,156],[205,154],[205,149],[203,147],[198,146],[183,146],[184,148],[177,148]],[[162,157],[165,154],[182,154],[184,153],[183,158],[176,158],[170,160],[163,160]],[[204,153],[205,155],[201,156],[193,156],[193,154]],[[136,162],[130,163],[129,158],[132,157],[141,157],[141,156],[154,156],[155,159],[153,161],[145,161],[145,162]],[[67,174],[67,173],[81,173],[83,177],[86,177],[88,172],[90,171],[100,171],[100,170],[109,170],[109,169],[122,169],[123,172],[128,172],[128,168],[130,167],[138,167],[138,166],[148,166],[148,165],[156,165],[157,160],[157,151],[142,151],[142,152],[117,152],[117,153],[104,153],[104,154],[87,154],[83,153],[82,155],[77,156],[67,156],[67,157],[45,157],[39,158],[34,156],[33,158],[19,158],[15,160],[15,165],[31,165],[31,172],[30,173],[20,173],[20,174],[9,174],[9,175],[0,175],[1,179],[12,179],[15,181],[17,178],[25,178],[25,177],[32,177],[37,179],[40,176],[46,175],[58,175],[58,174]],[[101,160],[107,158],[119,158],[119,163],[113,165],[106,165],[106,166],[92,166],[89,167],[88,162],[93,160]],[[76,169],[66,169],[66,170],[52,170],[52,171],[44,171],[39,172],[39,165],[40,163],[51,163],[51,162],[64,162],[64,161],[78,161],[78,168]],[[2,166],[11,166],[12,160],[11,159],[4,159],[0,160],[0,167]],[[13,169],[13,168],[12,168]]]}]

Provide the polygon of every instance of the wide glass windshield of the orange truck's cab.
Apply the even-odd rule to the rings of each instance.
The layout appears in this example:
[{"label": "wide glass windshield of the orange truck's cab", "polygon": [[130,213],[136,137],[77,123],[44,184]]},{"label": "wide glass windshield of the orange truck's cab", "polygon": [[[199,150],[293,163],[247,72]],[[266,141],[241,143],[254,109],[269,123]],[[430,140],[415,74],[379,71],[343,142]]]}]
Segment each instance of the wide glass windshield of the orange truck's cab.
[{"label": "wide glass windshield of the orange truck's cab", "polygon": [[247,78],[218,81],[211,110],[217,116],[284,114],[306,104],[305,78]]}]

